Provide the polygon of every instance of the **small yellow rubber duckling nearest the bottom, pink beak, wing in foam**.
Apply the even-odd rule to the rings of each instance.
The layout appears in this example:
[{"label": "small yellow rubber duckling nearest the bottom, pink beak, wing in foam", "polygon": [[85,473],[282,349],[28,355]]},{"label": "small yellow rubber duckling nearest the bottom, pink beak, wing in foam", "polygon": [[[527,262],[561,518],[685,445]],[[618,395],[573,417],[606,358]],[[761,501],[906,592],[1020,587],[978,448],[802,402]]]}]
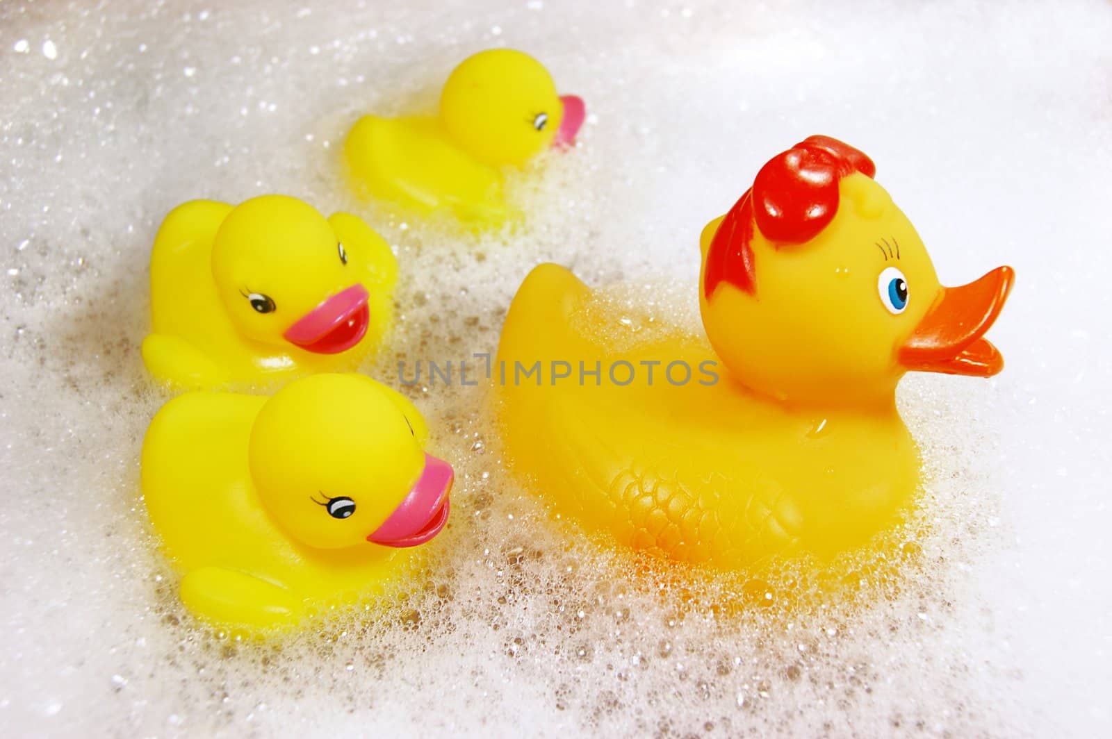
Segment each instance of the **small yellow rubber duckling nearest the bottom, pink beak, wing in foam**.
[{"label": "small yellow rubber duckling nearest the bottom, pink beak, wing in foam", "polygon": [[142,491],[186,607],[264,632],[381,590],[409,561],[399,548],[448,520],[451,467],[427,439],[408,400],[361,375],[168,402],[143,441]]}]

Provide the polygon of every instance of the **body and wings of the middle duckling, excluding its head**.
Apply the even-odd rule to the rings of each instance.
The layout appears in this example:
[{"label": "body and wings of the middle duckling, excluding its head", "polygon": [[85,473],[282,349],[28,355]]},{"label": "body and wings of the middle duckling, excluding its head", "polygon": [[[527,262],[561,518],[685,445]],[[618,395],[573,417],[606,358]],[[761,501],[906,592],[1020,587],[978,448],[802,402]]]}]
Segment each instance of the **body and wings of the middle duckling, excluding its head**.
[{"label": "body and wings of the middle duckling, excluding its head", "polygon": [[[151,333],[142,344],[143,360],[152,375],[183,388],[269,382],[354,369],[378,348],[393,320],[397,261],[381,237],[348,213],[335,213],[327,219],[344,244],[350,267],[342,280],[329,289],[340,290],[353,283],[364,286],[369,310],[364,338],[346,351],[318,353],[281,341],[277,332],[275,341],[267,343],[237,330],[220,297],[212,263],[214,242],[232,210],[222,202],[190,201],[172,210],[159,229],[150,259]],[[321,259],[337,259],[336,243],[325,249]],[[296,282],[296,270],[288,279]],[[245,304],[247,289],[256,286],[240,288]],[[327,297],[326,291],[305,300],[311,307]],[[279,310],[288,311],[289,307],[282,301]],[[294,318],[276,320],[288,324]]]}]

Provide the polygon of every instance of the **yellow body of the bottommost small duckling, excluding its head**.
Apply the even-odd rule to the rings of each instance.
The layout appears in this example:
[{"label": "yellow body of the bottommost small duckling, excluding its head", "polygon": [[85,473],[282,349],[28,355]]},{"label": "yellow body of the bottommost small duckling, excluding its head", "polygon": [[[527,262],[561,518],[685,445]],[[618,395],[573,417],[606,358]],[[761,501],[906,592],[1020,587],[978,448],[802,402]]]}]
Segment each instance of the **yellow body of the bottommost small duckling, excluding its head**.
[{"label": "yellow body of the bottommost small duckling, excluding its head", "polygon": [[312,549],[279,531],[262,510],[247,463],[251,427],[265,401],[235,393],[181,396],[155,418],[143,448],[147,510],[166,551],[186,572],[182,600],[218,622],[267,626],[294,618],[305,601],[381,582],[406,560],[403,555],[395,561],[400,552],[386,547],[361,557]]}]

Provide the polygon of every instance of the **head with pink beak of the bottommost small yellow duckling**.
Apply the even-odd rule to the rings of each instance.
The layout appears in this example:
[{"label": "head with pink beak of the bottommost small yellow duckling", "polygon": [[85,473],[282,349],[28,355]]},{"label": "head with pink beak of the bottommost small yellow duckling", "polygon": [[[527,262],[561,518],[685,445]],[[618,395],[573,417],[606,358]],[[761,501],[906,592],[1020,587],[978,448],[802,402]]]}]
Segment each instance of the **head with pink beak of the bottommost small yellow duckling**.
[{"label": "head with pink beak of the bottommost small yellow duckling", "polygon": [[448,520],[451,467],[401,396],[361,375],[289,383],[251,429],[249,465],[267,513],[317,549],[425,543]]}]

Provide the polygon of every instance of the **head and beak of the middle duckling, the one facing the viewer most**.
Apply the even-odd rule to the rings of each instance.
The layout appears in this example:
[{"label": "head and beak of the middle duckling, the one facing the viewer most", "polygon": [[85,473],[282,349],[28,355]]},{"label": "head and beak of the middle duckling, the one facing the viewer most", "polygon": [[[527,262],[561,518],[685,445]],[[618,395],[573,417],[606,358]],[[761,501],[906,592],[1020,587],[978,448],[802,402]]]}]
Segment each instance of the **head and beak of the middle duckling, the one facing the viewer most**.
[{"label": "head and beak of the middle duckling, the one facing the viewer most", "polygon": [[311,206],[262,196],[220,224],[212,278],[245,338],[332,354],[359,343],[370,323],[359,259]]}]

